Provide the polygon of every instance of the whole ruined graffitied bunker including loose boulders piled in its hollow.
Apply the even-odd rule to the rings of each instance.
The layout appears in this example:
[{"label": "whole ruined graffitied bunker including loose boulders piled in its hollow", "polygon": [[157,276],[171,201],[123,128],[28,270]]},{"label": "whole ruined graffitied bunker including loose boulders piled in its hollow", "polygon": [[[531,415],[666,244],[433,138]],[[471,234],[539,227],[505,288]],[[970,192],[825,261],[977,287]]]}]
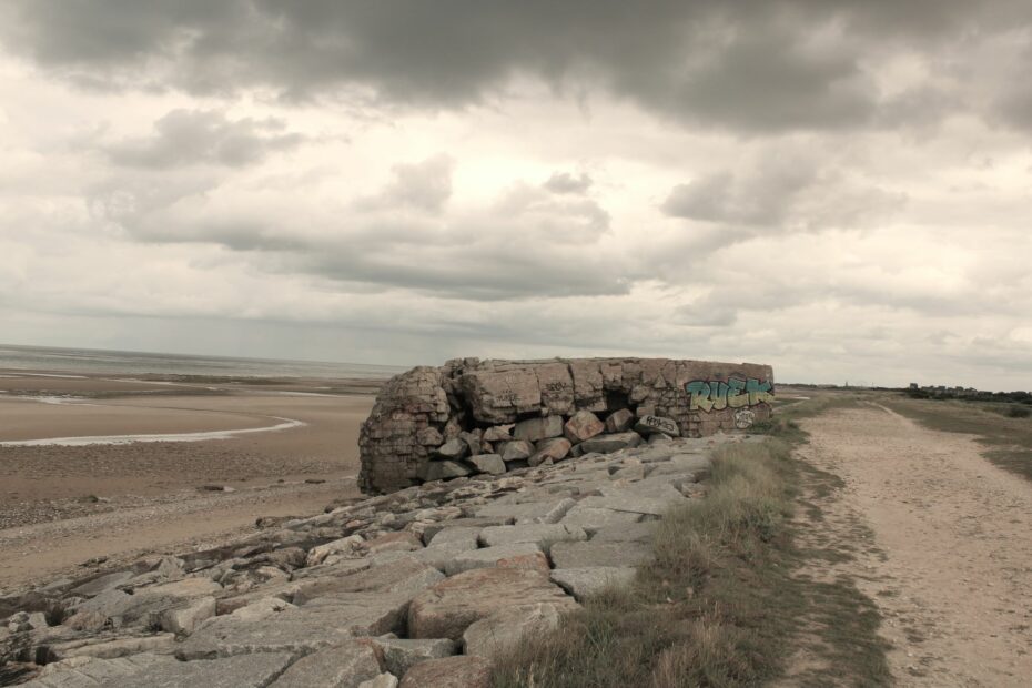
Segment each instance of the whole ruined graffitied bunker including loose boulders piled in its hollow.
[{"label": "whole ruined graffitied bunker including loose boulders piled in its hollow", "polygon": [[358,487],[382,494],[643,438],[747,431],[770,417],[772,398],[773,372],[751,363],[462,358],[416,367],[384,386],[362,425]]}]

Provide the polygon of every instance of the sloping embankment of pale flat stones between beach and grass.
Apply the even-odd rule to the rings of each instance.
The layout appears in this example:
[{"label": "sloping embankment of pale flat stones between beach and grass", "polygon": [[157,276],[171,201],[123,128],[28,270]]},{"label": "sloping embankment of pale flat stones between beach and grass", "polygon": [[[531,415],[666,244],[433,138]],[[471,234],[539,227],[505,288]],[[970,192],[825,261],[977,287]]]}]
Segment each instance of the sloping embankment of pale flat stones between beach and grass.
[{"label": "sloping embankment of pale flat stones between beach and grass", "polygon": [[660,515],[705,498],[717,445],[753,439],[427,483],[0,598],[0,675],[36,688],[487,686],[492,658],[631,580]]}]

